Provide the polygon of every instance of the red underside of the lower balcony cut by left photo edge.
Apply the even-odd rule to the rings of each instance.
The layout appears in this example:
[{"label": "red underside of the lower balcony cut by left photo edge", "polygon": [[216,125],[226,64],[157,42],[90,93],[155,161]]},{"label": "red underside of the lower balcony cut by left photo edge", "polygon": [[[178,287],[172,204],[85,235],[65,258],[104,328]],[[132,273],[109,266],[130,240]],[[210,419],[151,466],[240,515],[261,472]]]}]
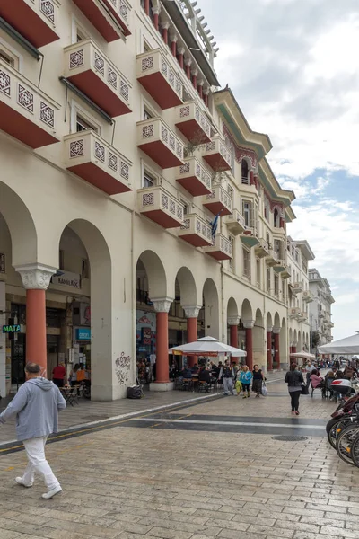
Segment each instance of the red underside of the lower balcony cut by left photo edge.
[{"label": "red underside of the lower balcony cut by left photo edge", "polygon": [[0,102],[0,129],[33,149],[58,142],[48,131],[41,129],[3,102]]}]

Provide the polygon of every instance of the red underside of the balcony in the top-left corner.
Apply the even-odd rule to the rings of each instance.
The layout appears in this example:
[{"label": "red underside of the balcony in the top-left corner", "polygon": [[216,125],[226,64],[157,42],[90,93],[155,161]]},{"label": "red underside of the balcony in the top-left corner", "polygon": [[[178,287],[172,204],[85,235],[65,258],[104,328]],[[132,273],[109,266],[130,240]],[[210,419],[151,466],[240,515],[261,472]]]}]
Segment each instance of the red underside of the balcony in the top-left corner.
[{"label": "red underside of the balcony in the top-left corner", "polygon": [[37,49],[59,39],[57,33],[23,0],[0,0],[0,17]]}]

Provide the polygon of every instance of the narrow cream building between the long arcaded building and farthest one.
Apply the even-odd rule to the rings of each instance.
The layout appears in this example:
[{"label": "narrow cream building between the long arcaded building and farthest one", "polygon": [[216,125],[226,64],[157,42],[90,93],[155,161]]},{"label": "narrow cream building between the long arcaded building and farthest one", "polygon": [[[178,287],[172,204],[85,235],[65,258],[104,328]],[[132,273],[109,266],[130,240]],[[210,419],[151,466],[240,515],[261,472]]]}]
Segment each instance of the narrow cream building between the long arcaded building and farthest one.
[{"label": "narrow cream building between the long arcaded building and farthest one", "polygon": [[313,296],[309,287],[308,262],[314,253],[305,240],[293,241],[288,237],[287,260],[290,272],[288,282],[288,326],[289,347],[294,352],[310,349],[309,304]]}]

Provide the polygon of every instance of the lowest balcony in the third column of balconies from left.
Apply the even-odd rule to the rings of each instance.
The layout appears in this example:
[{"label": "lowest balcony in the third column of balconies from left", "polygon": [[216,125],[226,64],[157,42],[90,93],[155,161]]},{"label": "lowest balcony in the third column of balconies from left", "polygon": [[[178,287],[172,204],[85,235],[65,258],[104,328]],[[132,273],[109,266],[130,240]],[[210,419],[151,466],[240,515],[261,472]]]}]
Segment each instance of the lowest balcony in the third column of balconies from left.
[{"label": "lowest balcony in the third column of balconies from left", "polygon": [[162,186],[137,190],[138,207],[142,215],[163,228],[183,225],[183,204]]}]

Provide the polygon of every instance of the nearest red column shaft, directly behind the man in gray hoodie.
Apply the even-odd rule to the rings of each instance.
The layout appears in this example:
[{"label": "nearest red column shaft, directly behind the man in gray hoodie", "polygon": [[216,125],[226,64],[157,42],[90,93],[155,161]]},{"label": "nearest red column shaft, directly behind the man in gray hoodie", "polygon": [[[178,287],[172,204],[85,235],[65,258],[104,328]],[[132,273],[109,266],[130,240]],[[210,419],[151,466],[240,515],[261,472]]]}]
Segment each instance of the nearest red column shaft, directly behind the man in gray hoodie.
[{"label": "nearest red column shaft, directly behind the man in gray hoodie", "polygon": [[47,377],[45,290],[26,290],[26,362],[39,363]]}]

